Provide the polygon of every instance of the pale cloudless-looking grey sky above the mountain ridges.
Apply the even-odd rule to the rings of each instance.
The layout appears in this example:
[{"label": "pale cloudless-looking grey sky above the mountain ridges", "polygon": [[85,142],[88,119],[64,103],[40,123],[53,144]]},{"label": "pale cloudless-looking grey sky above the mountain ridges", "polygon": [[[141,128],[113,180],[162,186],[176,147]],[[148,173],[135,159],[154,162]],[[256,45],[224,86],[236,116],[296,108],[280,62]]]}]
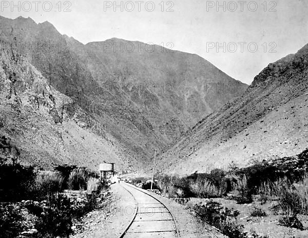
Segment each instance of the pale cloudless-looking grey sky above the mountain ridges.
[{"label": "pale cloudless-looking grey sky above the mountain ridges", "polygon": [[218,1],[222,7],[217,9],[217,1],[205,0],[115,1],[119,6],[122,2],[123,9],[114,9],[113,1],[51,0],[49,6],[41,0],[37,12],[33,1],[21,1],[20,9],[1,1],[0,14],[31,17],[36,23],[48,20],[60,33],[84,44],[112,37],[165,46],[172,42],[172,49],[198,54],[248,84],[269,62],[308,43],[307,0],[226,1],[225,9],[224,1]]}]

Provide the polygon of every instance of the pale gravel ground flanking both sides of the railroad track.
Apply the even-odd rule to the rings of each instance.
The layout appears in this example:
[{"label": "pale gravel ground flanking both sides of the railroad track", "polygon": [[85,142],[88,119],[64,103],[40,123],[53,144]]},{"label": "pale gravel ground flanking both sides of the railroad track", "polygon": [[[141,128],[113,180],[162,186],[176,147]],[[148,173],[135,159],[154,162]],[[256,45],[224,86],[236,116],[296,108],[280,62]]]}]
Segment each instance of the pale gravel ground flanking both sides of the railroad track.
[{"label": "pale gravel ground flanking both sides of the railroad track", "polygon": [[[115,201],[110,204],[113,208],[108,208],[110,213],[107,219],[106,215],[104,215],[106,213],[104,209],[94,211],[97,215],[89,215],[89,218],[85,218],[85,222],[89,224],[89,226],[87,226],[82,233],[76,234],[72,236],[72,238],[120,237],[125,228],[133,219],[136,203],[131,194],[120,184],[112,185],[111,192],[114,194]],[[172,215],[174,215],[181,238],[226,238],[226,236],[221,234],[215,227],[211,227],[208,224],[203,224],[190,210],[185,209],[183,205],[155,193],[148,191],[146,192],[159,199],[171,211]],[[136,195],[137,200],[139,201],[143,199],[139,193],[137,194],[135,192],[133,195]],[[140,219],[140,217],[137,217],[137,219]],[[135,228],[140,229],[140,227]]]}]

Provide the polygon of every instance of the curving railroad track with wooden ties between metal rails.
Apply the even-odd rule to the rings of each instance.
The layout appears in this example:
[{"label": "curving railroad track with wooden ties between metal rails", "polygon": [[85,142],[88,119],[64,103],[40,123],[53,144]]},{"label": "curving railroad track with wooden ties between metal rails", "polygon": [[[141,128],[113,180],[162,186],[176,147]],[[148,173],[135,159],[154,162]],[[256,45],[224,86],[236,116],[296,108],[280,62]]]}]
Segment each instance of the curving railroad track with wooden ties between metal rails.
[{"label": "curving railroad track with wooden ties between metal rails", "polygon": [[121,184],[134,198],[132,220],[120,238],[179,238],[174,216],[158,199],[130,184]]}]

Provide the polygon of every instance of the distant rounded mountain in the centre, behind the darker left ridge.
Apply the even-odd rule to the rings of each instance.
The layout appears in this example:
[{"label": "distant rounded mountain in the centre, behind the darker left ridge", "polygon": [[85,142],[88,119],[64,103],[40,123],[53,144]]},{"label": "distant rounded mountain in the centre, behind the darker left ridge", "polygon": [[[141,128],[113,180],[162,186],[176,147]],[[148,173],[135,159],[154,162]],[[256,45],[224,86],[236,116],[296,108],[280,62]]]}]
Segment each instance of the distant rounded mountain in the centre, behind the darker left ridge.
[{"label": "distant rounded mountain in the centre, behind the darker left ridge", "polygon": [[[246,90],[245,84],[198,55],[117,38],[91,42],[86,49],[92,76],[114,93],[125,94],[129,102],[141,104],[142,111],[150,109],[143,113],[154,120],[176,115],[194,125]],[[153,111],[157,118],[150,115]]]}]

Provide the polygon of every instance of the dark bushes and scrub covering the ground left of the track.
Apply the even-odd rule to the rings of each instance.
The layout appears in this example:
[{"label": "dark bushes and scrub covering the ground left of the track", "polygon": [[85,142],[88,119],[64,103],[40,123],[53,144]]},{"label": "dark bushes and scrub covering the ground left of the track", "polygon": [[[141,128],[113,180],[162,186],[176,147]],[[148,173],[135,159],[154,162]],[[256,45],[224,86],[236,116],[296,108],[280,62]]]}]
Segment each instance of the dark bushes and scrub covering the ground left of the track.
[{"label": "dark bushes and scrub covering the ground left of the track", "polygon": [[73,221],[100,208],[108,193],[97,175],[85,168],[44,171],[3,163],[0,170],[1,238],[69,237]]}]

